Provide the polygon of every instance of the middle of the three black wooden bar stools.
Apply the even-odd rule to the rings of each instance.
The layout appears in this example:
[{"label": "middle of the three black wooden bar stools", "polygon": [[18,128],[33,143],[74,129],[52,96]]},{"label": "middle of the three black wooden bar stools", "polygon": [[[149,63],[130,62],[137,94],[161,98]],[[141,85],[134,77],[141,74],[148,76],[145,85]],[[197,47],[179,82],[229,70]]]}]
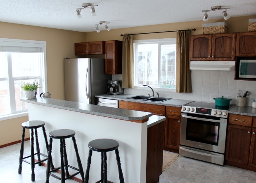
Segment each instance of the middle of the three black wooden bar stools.
[{"label": "middle of the three black wooden bar stools", "polygon": [[[45,183],[49,183],[49,178],[50,175],[53,176],[54,178],[57,178],[59,180],[61,180],[62,183],[65,183],[65,180],[68,178],[71,178],[73,176],[76,176],[77,174],[81,174],[82,180],[84,181],[84,174],[83,174],[83,167],[82,167],[82,163],[78,154],[78,148],[76,145],[76,139],[75,139],[75,134],[76,132],[74,130],[68,130],[68,129],[61,129],[61,130],[54,130],[51,131],[49,133],[49,137],[50,137],[50,144],[49,144],[49,157],[48,158],[48,162],[47,162],[47,168],[46,168],[46,181]],[[72,167],[68,164],[68,158],[66,155],[66,142],[65,139],[72,137],[73,140],[73,145],[75,148],[75,152],[76,152],[76,160],[78,163],[78,169],[75,167]],[[60,139],[60,167],[55,168],[50,170],[50,161],[52,159],[51,154],[52,154],[52,139]],[[69,174],[69,168],[76,170],[77,172],[70,175]],[[60,176],[56,176],[55,174],[52,174],[52,172],[55,172],[57,170],[60,169]],[[65,172],[64,169],[66,170],[66,178],[65,178]]]}]

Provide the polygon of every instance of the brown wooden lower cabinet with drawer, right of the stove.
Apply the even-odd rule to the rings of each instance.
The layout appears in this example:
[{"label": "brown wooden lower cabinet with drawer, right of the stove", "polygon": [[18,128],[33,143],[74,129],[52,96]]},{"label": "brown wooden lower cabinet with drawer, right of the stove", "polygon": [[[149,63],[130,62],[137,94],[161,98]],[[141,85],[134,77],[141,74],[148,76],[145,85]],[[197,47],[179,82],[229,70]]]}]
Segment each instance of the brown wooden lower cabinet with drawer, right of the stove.
[{"label": "brown wooden lower cabinet with drawer, right of the stove", "polygon": [[[254,120],[254,121],[253,121]],[[256,171],[256,118],[229,115],[226,164]]]}]

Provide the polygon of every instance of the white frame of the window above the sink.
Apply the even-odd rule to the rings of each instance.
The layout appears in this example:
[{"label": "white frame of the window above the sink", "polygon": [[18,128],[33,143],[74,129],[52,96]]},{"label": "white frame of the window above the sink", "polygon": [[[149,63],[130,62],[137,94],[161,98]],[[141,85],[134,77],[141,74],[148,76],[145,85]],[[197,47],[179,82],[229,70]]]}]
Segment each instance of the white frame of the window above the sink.
[{"label": "white frame of the window above the sink", "polygon": [[[176,38],[173,37],[173,38],[163,38],[163,39],[144,39],[144,40],[134,40],[133,41],[133,81],[134,81],[134,88],[135,89],[144,89],[145,87],[143,86],[135,86],[136,84],[136,68],[137,68],[137,62],[136,62],[136,56],[137,56],[137,45],[138,44],[142,44],[142,43],[150,43],[150,44],[154,44],[154,43],[157,43],[157,44],[176,44]],[[161,46],[159,46],[159,53],[161,52]],[[161,55],[158,54],[158,60],[160,60],[160,57]],[[159,61],[158,62],[158,67],[161,68],[160,65],[161,62]],[[175,68],[175,73],[176,73],[176,68]],[[159,69],[158,69],[158,78],[160,78],[160,75],[161,73],[159,72]],[[160,88],[159,86],[156,87],[156,86],[151,86],[152,88],[156,88],[158,90],[163,90],[163,91],[176,91],[175,88]],[[148,89],[148,88],[145,88],[145,89]]]}]

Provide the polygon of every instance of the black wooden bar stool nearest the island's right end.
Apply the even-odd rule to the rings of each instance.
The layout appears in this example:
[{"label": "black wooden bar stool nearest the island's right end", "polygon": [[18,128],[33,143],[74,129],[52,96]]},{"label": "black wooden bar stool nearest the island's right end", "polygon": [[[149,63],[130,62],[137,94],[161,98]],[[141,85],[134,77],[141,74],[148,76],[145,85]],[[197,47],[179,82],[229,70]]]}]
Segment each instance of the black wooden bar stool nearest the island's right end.
[{"label": "black wooden bar stool nearest the island's right end", "polygon": [[92,151],[101,152],[101,172],[100,172],[100,181],[97,181],[96,183],[111,183],[107,180],[107,152],[114,151],[116,152],[116,161],[118,166],[118,172],[119,172],[119,181],[120,183],[124,183],[123,179],[123,172],[121,169],[121,162],[119,157],[119,143],[116,140],[113,139],[96,139],[93,141],[90,141],[88,144],[88,147],[90,148],[89,154],[88,154],[88,161],[87,161],[87,169],[85,173],[85,181],[84,183],[88,183],[89,181],[89,173],[90,173],[90,164],[92,160]]}]

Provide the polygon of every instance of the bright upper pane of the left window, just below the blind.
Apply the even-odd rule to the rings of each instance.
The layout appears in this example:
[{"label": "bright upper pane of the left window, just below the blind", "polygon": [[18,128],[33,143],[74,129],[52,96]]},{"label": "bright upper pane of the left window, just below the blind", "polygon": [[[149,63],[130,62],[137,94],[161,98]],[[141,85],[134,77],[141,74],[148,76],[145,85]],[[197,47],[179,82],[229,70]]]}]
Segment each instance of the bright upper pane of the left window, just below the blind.
[{"label": "bright upper pane of the left window, just below the blind", "polygon": [[42,53],[12,53],[12,76],[39,76]]}]

